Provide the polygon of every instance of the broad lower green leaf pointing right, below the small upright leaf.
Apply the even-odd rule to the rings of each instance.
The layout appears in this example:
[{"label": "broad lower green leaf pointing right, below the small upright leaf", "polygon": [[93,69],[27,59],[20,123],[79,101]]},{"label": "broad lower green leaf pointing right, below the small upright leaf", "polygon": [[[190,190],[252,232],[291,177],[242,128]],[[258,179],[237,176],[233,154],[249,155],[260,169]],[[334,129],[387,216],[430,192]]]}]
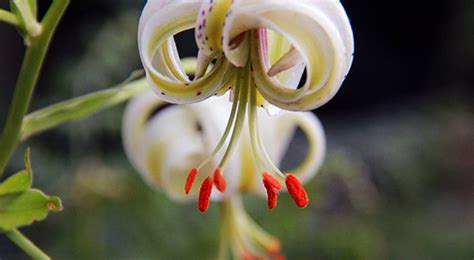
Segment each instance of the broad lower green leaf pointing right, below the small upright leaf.
[{"label": "broad lower green leaf pointing right, below the small upright leaf", "polygon": [[39,190],[0,196],[0,229],[11,230],[46,218],[49,211],[61,211],[61,200]]}]

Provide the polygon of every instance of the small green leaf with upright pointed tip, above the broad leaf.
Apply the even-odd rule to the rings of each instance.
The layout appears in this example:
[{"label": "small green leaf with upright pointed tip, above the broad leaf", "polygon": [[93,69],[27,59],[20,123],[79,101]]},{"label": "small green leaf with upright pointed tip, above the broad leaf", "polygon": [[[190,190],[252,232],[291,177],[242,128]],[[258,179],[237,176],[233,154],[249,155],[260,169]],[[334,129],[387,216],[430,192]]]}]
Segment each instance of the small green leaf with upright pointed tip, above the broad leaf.
[{"label": "small green leaf with upright pointed tip, above the broad leaf", "polygon": [[31,170],[30,149],[25,152],[25,170],[20,171],[0,183],[0,195],[23,192],[31,188],[33,172]]}]

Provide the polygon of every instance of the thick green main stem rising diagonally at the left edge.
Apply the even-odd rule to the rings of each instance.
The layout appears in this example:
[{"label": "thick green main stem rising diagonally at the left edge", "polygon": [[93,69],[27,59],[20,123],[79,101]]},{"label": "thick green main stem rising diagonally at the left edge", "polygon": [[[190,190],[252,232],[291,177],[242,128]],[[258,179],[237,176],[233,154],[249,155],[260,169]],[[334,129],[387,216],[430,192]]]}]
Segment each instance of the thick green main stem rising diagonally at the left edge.
[{"label": "thick green main stem rising diagonally at the left edge", "polygon": [[53,33],[64,14],[69,0],[54,0],[41,24],[43,31],[38,37],[31,38],[8,111],[7,121],[0,136],[0,178],[10,160],[20,137],[20,130],[31,96],[38,81],[44,57],[48,51]]}]

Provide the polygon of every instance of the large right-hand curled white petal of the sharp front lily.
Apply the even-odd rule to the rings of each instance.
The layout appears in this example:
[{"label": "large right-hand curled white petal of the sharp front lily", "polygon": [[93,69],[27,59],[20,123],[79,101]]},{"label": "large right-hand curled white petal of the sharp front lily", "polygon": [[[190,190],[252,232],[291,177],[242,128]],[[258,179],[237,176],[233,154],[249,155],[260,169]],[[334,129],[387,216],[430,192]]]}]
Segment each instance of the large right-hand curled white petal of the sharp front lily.
[{"label": "large right-hand curled white petal of the sharp front lily", "polygon": [[[270,103],[287,110],[317,108],[338,91],[353,51],[352,33],[343,7],[336,0],[236,0],[226,34],[268,28],[288,39],[302,55],[307,81],[291,89],[268,76],[261,35],[252,44],[253,76]],[[227,25],[229,24],[229,25]],[[225,46],[225,45],[224,45]]]}]

